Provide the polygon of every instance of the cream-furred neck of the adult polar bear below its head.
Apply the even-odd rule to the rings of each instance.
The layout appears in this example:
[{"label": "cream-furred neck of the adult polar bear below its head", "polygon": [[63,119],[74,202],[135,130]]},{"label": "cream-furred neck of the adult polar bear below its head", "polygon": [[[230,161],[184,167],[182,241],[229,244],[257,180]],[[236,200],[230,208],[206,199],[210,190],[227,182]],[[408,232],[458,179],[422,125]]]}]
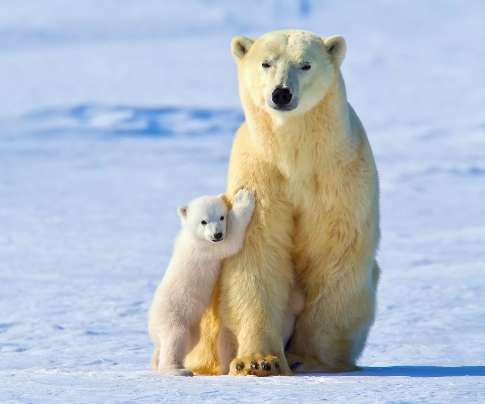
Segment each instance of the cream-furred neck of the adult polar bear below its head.
[{"label": "cream-furred neck of the adult polar bear below its head", "polygon": [[[290,174],[315,163],[335,164],[354,160],[358,139],[353,138],[345,84],[339,73],[323,99],[310,111],[280,121],[255,106],[246,96],[246,120],[251,141],[261,158]],[[350,152],[350,153],[349,153]],[[305,159],[304,161],[302,159]],[[327,165],[328,167],[328,165]]]}]

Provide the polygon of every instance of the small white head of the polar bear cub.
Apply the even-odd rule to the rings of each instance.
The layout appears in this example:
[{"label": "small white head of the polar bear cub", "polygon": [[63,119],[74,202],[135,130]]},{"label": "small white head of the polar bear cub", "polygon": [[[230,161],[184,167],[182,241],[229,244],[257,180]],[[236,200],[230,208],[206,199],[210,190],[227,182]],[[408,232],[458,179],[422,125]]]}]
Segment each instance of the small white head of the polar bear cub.
[{"label": "small white head of the polar bear cub", "polygon": [[226,236],[229,202],[224,194],[201,196],[178,207],[182,227],[193,236],[218,243]]}]

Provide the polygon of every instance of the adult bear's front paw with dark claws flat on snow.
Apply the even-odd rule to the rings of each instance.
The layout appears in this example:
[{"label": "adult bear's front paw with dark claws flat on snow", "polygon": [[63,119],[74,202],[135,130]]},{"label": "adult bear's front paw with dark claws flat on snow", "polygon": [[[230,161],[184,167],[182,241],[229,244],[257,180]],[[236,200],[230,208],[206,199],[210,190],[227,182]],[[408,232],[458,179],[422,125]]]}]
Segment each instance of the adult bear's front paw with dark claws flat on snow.
[{"label": "adult bear's front paw with dark claws flat on snow", "polygon": [[231,362],[229,374],[233,376],[274,376],[289,374],[286,360],[267,356],[258,358],[236,358]]}]

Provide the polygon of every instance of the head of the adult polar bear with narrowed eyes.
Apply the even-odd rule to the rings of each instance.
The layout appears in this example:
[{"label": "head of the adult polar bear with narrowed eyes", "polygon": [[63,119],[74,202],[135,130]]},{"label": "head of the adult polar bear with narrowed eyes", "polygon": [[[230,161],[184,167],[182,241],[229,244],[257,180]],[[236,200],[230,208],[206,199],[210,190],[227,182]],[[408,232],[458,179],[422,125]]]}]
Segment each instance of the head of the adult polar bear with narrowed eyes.
[{"label": "head of the adult polar bear with narrowed eyes", "polygon": [[[269,32],[231,42],[239,88],[253,104],[279,118],[315,107],[336,80],[345,56],[342,36],[320,38],[307,31]],[[246,105],[245,105],[246,108]]]}]

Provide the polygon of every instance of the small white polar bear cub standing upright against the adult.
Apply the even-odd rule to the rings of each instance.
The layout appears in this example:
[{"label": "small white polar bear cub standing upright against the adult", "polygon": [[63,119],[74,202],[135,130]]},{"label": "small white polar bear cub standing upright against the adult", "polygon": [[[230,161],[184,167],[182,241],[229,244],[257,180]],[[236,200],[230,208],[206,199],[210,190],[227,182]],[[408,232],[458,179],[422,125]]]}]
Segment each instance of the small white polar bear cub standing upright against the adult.
[{"label": "small white polar bear cub standing upright against the adult", "polygon": [[251,192],[240,189],[232,209],[224,194],[202,196],[178,208],[182,229],[149,310],[157,372],[193,376],[183,360],[199,340],[199,323],[210,306],[222,260],[243,246],[254,206]]}]

